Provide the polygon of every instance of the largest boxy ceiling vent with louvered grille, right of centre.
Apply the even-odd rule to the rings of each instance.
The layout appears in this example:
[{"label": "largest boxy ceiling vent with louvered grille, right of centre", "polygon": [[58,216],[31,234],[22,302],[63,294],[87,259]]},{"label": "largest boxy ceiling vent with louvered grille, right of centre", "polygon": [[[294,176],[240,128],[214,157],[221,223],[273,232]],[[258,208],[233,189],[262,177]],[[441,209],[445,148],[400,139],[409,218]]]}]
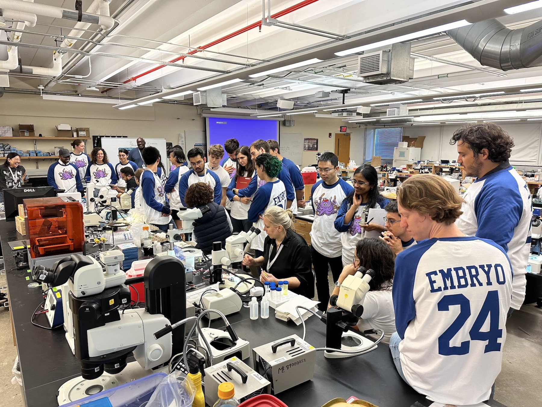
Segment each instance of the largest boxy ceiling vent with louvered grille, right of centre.
[{"label": "largest boxy ceiling vent with louvered grille, right of centre", "polygon": [[402,84],[414,78],[410,42],[392,44],[391,49],[359,55],[358,76],[367,84]]}]

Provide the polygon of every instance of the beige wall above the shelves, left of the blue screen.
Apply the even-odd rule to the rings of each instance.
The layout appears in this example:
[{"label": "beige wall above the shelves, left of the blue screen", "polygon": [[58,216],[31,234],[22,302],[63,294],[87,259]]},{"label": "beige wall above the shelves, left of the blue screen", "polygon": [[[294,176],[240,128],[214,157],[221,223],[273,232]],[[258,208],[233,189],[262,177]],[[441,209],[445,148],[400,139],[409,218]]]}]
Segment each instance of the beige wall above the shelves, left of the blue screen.
[{"label": "beige wall above the shelves, left of the blue screen", "polygon": [[[179,119],[178,119],[179,118]],[[55,140],[55,125],[69,124],[72,128],[88,127],[91,135],[126,135],[128,137],[165,138],[177,144],[179,133],[185,130],[205,130],[205,122],[197,115],[195,106],[157,103],[134,109],[116,110],[104,103],[43,100],[40,96],[6,93],[0,98],[0,126],[34,124],[36,136],[42,133],[44,139],[36,139],[36,148],[54,152],[54,147],[65,147],[71,151],[70,140]],[[27,152],[34,149],[34,140],[18,137],[2,137],[0,143]],[[92,149],[87,140],[87,152]],[[1,160],[1,158],[0,158]],[[52,160],[25,160],[25,168],[47,168]]]}]

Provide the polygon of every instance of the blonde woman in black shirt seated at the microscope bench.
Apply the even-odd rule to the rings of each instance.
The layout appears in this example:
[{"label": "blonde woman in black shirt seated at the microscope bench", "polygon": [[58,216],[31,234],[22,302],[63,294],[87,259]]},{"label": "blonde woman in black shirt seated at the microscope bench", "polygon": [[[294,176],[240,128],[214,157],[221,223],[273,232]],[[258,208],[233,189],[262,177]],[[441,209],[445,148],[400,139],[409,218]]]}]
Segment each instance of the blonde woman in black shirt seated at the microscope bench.
[{"label": "blonde woman in black shirt seated at the microscope bench", "polygon": [[304,238],[293,230],[291,209],[271,206],[263,213],[263,230],[267,232],[263,256],[244,255],[243,265],[260,266],[260,281],[288,281],[288,289],[307,298],[314,297],[311,250]]}]

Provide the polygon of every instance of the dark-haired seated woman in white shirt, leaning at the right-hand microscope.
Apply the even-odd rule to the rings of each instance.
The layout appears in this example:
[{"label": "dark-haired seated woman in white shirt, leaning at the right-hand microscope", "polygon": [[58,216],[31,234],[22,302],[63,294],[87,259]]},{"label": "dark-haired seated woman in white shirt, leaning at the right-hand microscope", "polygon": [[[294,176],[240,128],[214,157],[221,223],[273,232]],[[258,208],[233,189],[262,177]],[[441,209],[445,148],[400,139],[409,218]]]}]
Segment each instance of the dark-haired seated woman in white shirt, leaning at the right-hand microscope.
[{"label": "dark-haired seated woman in white shirt, leaning at the right-hand microscope", "polygon": [[[391,335],[396,331],[391,295],[395,267],[393,253],[382,240],[364,239],[358,240],[356,251],[351,259],[352,264],[344,267],[339,280],[335,283],[333,295],[339,295],[340,285],[344,279],[354,275],[360,266],[363,266],[365,270],[374,270],[375,277],[369,282],[370,290],[362,303],[363,314],[358,322],[358,328],[360,330],[382,329],[384,331],[382,342],[389,344]],[[327,308],[331,308],[331,305],[328,304]]]}]

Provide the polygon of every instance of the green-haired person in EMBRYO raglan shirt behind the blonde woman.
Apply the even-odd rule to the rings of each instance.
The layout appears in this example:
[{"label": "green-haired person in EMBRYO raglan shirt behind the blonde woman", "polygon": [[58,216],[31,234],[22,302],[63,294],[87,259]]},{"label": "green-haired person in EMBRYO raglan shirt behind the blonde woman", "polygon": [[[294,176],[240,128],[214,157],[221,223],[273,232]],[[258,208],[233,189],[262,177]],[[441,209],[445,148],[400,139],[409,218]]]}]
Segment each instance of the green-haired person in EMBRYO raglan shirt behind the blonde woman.
[{"label": "green-haired person in EMBRYO raglan shirt behind the blonde woman", "polygon": [[284,183],[279,180],[278,174],[282,169],[282,164],[278,158],[270,154],[263,153],[256,157],[256,173],[259,179],[265,183],[257,189],[252,197],[250,208],[248,209],[248,220],[253,222],[254,227],[260,229],[260,234],[250,243],[254,249],[256,257],[263,256],[263,243],[267,237],[263,230],[263,212],[270,206],[280,206],[286,209],[286,188]]}]

